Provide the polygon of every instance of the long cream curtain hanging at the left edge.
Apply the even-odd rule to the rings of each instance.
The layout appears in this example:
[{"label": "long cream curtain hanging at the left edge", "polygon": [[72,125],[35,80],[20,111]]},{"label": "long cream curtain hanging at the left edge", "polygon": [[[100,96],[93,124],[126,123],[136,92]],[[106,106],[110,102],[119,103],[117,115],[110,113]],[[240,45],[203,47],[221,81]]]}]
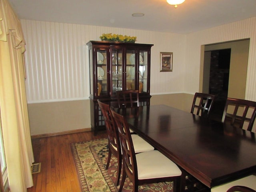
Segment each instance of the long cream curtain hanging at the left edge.
[{"label": "long cream curtain hanging at the left edge", "polygon": [[25,41],[8,0],[0,0],[0,108],[10,190],[33,186],[34,162],[25,89]]}]

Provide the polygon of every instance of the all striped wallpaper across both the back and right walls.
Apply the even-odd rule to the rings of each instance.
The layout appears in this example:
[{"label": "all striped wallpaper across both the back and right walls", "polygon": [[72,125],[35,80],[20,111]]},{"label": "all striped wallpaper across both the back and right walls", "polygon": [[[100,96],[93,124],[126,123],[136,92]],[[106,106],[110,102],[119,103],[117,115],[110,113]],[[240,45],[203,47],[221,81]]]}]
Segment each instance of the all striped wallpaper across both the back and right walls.
[{"label": "all striped wallpaper across both the back and right walls", "polygon": [[[256,18],[187,35],[32,20],[21,20],[21,24],[28,103],[88,99],[86,42],[100,40],[102,33],[137,36],[136,43],[154,44],[151,94],[194,94],[199,89],[201,45],[250,38],[246,98],[256,100]],[[173,52],[173,72],[159,72],[160,52]]]}]

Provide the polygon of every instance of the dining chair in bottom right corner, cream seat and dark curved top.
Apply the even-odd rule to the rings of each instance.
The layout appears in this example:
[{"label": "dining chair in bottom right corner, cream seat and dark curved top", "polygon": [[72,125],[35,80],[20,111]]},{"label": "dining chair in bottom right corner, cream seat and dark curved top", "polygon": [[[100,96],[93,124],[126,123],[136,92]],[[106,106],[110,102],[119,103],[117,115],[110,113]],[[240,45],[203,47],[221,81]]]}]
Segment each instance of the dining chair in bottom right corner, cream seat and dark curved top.
[{"label": "dining chair in bottom right corner, cream seat and dark curved top", "polygon": [[[243,186],[243,187],[242,187]],[[246,186],[246,187],[244,187]],[[244,191],[242,191],[242,188]],[[248,190],[250,188],[251,190]],[[246,190],[247,189],[247,190]],[[255,192],[256,190],[256,176],[249,175],[232,182],[228,182],[219,186],[211,188],[211,192]]]}]

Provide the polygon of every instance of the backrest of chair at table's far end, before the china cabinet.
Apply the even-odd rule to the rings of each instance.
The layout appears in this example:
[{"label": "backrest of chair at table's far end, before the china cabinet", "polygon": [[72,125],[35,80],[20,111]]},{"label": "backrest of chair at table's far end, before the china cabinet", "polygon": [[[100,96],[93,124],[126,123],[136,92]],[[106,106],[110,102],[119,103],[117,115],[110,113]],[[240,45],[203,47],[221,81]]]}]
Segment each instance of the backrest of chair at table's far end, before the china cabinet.
[{"label": "backrest of chair at table's far end, before the china cabinet", "polygon": [[116,92],[119,108],[139,106],[139,91],[124,90]]}]

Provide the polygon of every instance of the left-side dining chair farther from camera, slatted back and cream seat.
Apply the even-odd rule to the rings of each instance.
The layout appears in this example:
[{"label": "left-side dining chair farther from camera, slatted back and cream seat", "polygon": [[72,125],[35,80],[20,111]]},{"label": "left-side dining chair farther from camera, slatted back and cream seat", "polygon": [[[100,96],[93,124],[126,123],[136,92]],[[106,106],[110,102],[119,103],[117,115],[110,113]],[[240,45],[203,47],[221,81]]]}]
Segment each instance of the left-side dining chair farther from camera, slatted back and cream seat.
[{"label": "left-side dining chair farther from camera, slatted back and cream seat", "polygon": [[[120,139],[116,124],[110,111],[110,106],[100,100],[98,100],[98,104],[104,117],[106,132],[108,135],[108,160],[106,164],[106,169],[108,169],[109,167],[111,155],[114,154],[114,156],[116,156],[117,158],[117,176],[115,185],[118,186],[122,166],[122,148],[120,146]],[[140,136],[132,134],[131,137],[134,142],[134,150],[136,153],[154,150],[154,147],[146,142],[144,139],[142,139]]]}]

